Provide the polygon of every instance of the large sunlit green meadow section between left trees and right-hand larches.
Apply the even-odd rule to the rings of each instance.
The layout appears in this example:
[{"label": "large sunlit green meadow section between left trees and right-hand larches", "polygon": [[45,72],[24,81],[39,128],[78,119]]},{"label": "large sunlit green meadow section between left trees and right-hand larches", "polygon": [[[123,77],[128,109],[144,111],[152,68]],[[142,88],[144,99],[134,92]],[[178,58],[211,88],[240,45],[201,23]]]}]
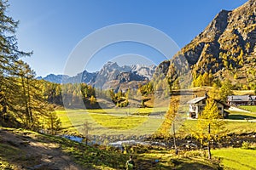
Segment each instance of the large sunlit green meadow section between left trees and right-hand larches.
[{"label": "large sunlit green meadow section between left trees and right-hand larches", "polygon": [[[149,110],[144,110],[146,113],[147,111]],[[62,132],[69,134],[83,133],[84,124],[86,124],[91,135],[125,134],[138,136],[154,133],[163,121],[161,118],[152,116],[131,116],[124,112],[106,112],[102,110],[89,112],[85,110],[67,110],[56,111],[56,113],[61,119]]]}]

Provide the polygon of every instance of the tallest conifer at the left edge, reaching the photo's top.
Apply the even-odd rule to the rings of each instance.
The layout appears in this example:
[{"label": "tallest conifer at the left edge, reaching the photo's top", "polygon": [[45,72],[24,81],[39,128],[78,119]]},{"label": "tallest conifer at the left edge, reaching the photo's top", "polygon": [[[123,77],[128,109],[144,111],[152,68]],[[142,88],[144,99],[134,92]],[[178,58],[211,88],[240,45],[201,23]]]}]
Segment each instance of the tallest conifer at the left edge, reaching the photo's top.
[{"label": "tallest conifer at the left edge, reaching the photo's top", "polygon": [[16,63],[20,57],[31,55],[19,50],[15,30],[18,22],[6,15],[8,4],[0,0],[0,122],[9,122],[10,111],[15,111],[14,99],[20,94],[20,85],[13,77],[17,73]]}]

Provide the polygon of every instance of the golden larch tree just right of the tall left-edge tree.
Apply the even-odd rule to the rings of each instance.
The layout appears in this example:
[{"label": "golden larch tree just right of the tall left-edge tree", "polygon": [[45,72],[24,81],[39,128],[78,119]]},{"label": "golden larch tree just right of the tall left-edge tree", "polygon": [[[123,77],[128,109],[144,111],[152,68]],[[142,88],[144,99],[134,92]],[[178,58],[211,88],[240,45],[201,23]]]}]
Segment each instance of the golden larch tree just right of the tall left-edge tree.
[{"label": "golden larch tree just right of the tall left-edge tree", "polygon": [[60,128],[61,122],[44,99],[40,82],[34,78],[35,73],[21,60],[16,65],[18,71],[15,73],[15,84],[19,87],[20,93],[12,99],[15,105],[14,116],[26,128],[35,131],[47,129],[50,133],[54,133]]}]

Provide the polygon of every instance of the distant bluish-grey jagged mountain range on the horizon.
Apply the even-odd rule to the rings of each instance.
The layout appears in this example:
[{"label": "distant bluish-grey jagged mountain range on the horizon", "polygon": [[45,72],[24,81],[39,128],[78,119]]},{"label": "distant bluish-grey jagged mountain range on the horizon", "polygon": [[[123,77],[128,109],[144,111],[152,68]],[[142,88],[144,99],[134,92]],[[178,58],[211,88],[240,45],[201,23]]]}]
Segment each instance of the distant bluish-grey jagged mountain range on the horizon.
[{"label": "distant bluish-grey jagged mountain range on the horizon", "polygon": [[118,84],[129,82],[148,82],[154,74],[155,65],[123,65],[116,62],[108,62],[100,71],[83,71],[74,77],[67,75],[49,74],[46,77],[38,77],[45,81],[55,83],[85,82],[96,88],[117,88]]}]

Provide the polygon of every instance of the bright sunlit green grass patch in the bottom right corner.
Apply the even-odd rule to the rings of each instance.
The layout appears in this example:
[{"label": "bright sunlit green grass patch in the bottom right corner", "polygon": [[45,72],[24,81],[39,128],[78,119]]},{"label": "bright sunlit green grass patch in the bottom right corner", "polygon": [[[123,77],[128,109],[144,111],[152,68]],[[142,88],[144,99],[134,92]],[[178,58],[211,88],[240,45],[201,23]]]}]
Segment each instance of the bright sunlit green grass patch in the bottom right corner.
[{"label": "bright sunlit green grass patch in the bottom right corner", "polygon": [[212,150],[212,155],[221,159],[221,165],[224,169],[256,169],[256,150],[229,148]]}]

